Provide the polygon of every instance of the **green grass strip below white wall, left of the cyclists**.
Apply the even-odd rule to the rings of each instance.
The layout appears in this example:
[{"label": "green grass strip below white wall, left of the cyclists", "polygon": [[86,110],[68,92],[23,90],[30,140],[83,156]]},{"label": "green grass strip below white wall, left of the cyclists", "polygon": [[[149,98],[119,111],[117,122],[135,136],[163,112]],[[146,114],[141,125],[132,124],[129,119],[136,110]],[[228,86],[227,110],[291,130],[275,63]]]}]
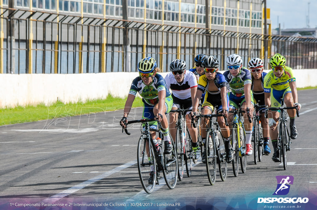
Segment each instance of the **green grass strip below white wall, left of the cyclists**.
[{"label": "green grass strip below white wall, left of the cyclists", "polygon": [[[0,109],[0,126],[23,122],[33,122],[38,120],[47,120],[63,116],[68,117],[80,114],[89,114],[92,112],[97,113],[103,111],[113,111],[117,109],[123,109],[125,103],[126,98],[123,99],[108,96],[106,99],[91,100],[85,103],[77,102],[64,104],[58,101],[50,106],[39,104],[37,106],[18,106],[15,108],[3,108]],[[139,97],[135,97],[132,107],[142,106],[142,99]]]}]

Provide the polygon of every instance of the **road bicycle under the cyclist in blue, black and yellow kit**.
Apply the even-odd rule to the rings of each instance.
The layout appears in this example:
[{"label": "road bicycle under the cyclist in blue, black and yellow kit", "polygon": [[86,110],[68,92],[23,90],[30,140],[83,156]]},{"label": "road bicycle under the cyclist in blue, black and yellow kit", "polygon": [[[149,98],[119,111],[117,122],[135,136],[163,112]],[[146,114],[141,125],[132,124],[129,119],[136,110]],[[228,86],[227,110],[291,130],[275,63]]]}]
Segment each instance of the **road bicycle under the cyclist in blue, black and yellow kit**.
[{"label": "road bicycle under the cyclist in blue, black and yellow kit", "polygon": [[[222,117],[222,114],[198,114],[196,117],[209,120],[209,124],[206,130],[206,142],[205,142],[205,159],[208,180],[211,185],[215,184],[217,163],[219,166],[219,173],[222,181],[225,181],[227,176],[227,162],[226,152],[224,147],[224,139],[219,132],[220,128],[217,122],[212,120],[213,117]],[[225,118],[226,125],[228,126],[227,118]],[[194,120],[192,120],[192,126],[196,127]],[[204,120],[204,123],[205,120]],[[220,133],[220,135],[218,135]]]}]

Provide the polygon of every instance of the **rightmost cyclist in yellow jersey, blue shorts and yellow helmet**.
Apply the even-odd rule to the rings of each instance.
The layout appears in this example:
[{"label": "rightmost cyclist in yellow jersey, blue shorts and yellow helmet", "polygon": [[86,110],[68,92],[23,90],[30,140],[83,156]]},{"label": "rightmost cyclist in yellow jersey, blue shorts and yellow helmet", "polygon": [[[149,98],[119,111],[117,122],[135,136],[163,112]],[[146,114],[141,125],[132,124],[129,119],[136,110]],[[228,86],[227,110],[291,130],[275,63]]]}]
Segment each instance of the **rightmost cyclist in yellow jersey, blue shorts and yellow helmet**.
[{"label": "rightmost cyclist in yellow jersey, blue shorts and yellow helmet", "polygon": [[[268,74],[264,77],[265,105],[280,107],[281,97],[283,97],[286,106],[292,107],[297,105],[299,110],[301,108],[301,104],[298,103],[293,70],[285,64],[285,57],[278,53],[270,59],[270,65],[273,70],[268,72]],[[296,110],[288,109],[287,113],[290,119],[289,127],[291,131],[291,139],[296,139],[298,135],[295,125]],[[269,117],[271,117],[269,119],[270,137],[274,148],[272,159],[274,162],[279,162],[280,155],[279,150],[277,149],[278,129],[276,129],[279,112],[271,111],[269,114]]]}]

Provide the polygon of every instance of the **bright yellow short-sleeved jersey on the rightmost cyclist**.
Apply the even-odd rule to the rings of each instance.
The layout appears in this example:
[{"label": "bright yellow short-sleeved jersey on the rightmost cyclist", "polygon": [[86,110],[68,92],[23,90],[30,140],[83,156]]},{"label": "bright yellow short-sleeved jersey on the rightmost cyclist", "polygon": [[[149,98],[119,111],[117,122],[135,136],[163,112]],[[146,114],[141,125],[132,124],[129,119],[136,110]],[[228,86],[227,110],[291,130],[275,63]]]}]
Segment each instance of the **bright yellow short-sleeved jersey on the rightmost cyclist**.
[{"label": "bright yellow short-sleeved jersey on the rightmost cyclist", "polygon": [[294,82],[295,77],[293,69],[285,66],[282,76],[276,77],[273,70],[269,71],[264,77],[264,92],[271,92],[271,88],[274,90],[284,90],[289,87],[290,82]]}]

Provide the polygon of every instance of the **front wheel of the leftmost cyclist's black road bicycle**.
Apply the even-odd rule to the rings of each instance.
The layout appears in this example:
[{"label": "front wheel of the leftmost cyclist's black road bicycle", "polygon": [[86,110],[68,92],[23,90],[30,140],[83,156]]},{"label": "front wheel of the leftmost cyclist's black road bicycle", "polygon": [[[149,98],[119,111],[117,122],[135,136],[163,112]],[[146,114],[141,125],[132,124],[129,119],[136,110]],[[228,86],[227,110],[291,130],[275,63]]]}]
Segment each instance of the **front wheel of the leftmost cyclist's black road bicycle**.
[{"label": "front wheel of the leftmost cyclist's black road bicycle", "polygon": [[[148,148],[148,152],[146,151]],[[149,149],[150,148],[150,149]],[[149,141],[146,135],[142,135],[138,142],[137,162],[139,177],[142,187],[146,193],[152,193],[156,184],[156,160],[154,157],[153,147],[149,147]],[[152,183],[149,183],[150,172],[154,171]]]}]

